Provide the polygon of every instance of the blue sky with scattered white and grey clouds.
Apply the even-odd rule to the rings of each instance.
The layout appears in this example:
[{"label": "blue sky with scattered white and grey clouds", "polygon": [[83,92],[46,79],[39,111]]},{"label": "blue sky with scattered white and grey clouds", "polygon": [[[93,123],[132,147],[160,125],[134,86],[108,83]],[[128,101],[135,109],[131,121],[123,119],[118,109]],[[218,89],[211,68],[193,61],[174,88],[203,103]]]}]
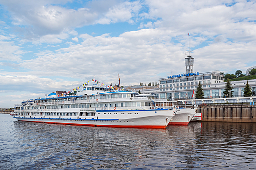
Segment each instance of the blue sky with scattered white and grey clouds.
[{"label": "blue sky with scattered white and grey clouds", "polygon": [[[190,33],[190,36],[188,36]],[[0,0],[0,108],[95,78],[139,85],[256,66],[256,1]]]}]

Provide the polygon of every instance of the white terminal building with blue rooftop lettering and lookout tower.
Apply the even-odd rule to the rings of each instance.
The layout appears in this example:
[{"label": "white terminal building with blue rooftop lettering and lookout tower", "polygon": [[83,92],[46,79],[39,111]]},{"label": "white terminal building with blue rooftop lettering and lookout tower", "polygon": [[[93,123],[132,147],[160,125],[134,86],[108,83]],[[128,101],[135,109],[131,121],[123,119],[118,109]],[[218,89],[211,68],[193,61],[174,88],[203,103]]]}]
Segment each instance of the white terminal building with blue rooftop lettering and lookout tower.
[{"label": "white terminal building with blue rooftop lettering and lookout tower", "polygon": [[[247,80],[231,81],[233,97],[225,98],[223,91],[226,85],[224,75],[220,71],[205,73],[193,72],[194,58],[185,58],[186,74],[171,75],[159,78],[159,86],[154,89],[140,90],[141,93],[155,94],[157,98],[177,100],[179,103],[202,104],[223,102],[256,102],[256,79],[248,80],[252,88],[252,97],[243,97]],[[202,85],[204,99],[195,99],[197,85]],[[138,91],[138,90],[137,90]],[[194,94],[193,94],[194,93]]]}]

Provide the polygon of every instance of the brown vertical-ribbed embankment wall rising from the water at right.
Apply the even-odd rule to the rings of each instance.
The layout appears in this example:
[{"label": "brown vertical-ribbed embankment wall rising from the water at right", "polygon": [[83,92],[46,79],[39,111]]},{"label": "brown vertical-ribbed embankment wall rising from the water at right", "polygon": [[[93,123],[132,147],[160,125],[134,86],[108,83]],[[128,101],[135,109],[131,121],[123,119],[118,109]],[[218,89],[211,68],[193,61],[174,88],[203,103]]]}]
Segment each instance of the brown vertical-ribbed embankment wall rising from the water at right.
[{"label": "brown vertical-ribbed embankment wall rising from the water at right", "polygon": [[256,105],[206,105],[197,113],[202,113],[202,121],[256,122]]}]

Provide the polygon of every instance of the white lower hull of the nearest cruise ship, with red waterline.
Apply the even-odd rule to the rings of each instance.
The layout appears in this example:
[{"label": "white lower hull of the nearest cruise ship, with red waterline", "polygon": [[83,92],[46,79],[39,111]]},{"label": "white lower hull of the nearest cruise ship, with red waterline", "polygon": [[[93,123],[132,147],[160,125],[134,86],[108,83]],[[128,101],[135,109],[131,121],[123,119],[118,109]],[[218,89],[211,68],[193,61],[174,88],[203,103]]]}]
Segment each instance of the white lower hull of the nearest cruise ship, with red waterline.
[{"label": "white lower hull of the nearest cruise ship, with red waterline", "polygon": [[[171,110],[156,110],[156,111],[137,111],[138,114],[132,114],[130,111],[113,111],[114,113],[98,115],[97,119],[91,117],[15,117],[20,121],[52,123],[52,124],[67,124],[79,126],[99,126],[99,127],[124,127],[124,128],[166,128],[169,121],[174,117]],[[128,114],[129,113],[129,114]],[[118,116],[119,115],[119,116]]]}]

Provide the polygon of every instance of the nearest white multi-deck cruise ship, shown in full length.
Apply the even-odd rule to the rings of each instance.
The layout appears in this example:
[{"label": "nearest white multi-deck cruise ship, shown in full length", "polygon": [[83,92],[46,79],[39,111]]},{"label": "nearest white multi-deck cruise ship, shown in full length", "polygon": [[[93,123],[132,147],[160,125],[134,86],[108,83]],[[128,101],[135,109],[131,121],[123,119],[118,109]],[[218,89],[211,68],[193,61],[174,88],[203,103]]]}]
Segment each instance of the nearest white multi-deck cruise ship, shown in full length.
[{"label": "nearest white multi-deck cruise ship, shown in full length", "polygon": [[15,105],[20,121],[84,126],[166,128],[173,109],[156,108],[154,97],[136,97],[132,91],[109,91],[85,85],[74,96],[23,101]]}]

